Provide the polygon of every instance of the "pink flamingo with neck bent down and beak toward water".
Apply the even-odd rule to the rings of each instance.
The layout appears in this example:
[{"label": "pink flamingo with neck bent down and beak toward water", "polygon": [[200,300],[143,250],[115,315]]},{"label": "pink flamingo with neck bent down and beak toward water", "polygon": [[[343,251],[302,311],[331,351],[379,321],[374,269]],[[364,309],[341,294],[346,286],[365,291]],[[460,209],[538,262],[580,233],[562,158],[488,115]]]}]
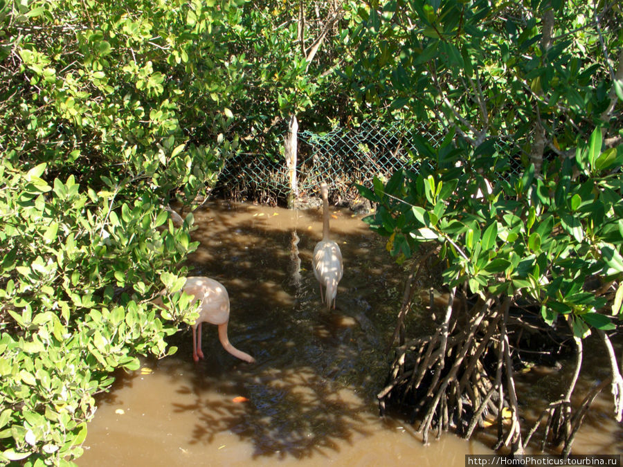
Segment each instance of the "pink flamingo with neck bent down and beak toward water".
[{"label": "pink flamingo with neck bent down and beak toward water", "polygon": [[[227,337],[227,323],[229,322],[229,295],[227,290],[220,282],[210,279],[210,277],[187,277],[183,291],[188,295],[194,295],[192,303],[201,301],[199,306],[199,318],[192,325],[192,359],[195,362],[199,358],[204,358],[204,352],[201,351],[201,324],[209,322],[219,327],[219,340],[223,348],[230,354],[245,362],[254,363],[255,358],[243,351],[236,349]],[[162,303],[160,297],[159,304]],[[197,332],[199,331],[199,332]]]}]

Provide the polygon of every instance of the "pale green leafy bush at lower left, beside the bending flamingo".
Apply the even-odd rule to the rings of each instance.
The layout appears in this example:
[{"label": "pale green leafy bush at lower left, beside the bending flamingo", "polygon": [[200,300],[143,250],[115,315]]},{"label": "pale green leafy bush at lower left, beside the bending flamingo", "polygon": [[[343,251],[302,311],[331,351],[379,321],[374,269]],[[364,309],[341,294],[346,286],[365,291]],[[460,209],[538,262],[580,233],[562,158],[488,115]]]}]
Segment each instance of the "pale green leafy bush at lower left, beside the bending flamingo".
[{"label": "pale green leafy bush at lower left, beside the bending flamingo", "polygon": [[0,459],[27,464],[80,455],[112,370],[175,351],[165,337],[185,309],[163,319],[147,299],[197,245],[192,216],[158,230],[169,214],[148,199],[115,205],[73,176],[48,185],[45,170],[0,166]]}]

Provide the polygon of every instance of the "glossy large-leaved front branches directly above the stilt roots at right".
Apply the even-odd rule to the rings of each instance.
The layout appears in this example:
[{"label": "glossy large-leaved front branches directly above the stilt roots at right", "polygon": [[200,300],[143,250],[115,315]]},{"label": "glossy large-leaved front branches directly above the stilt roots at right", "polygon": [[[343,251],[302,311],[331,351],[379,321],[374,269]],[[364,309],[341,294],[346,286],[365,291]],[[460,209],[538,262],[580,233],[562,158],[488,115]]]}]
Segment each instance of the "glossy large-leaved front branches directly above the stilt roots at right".
[{"label": "glossy large-leaved front branches directly above the stilt roots at right", "polygon": [[[600,147],[599,129],[593,135]],[[449,286],[467,283],[482,297],[534,304],[550,324],[570,315],[577,336],[613,329],[621,299],[608,304],[595,291],[623,277],[623,147],[598,149],[595,161],[612,160],[608,170],[587,160],[590,147],[579,150],[577,163],[554,162],[543,178],[527,170],[490,193],[477,172],[397,172],[374,190],[360,188],[379,205],[365,220],[390,237],[398,259],[440,246]],[[583,161],[586,169],[574,176]]]}]

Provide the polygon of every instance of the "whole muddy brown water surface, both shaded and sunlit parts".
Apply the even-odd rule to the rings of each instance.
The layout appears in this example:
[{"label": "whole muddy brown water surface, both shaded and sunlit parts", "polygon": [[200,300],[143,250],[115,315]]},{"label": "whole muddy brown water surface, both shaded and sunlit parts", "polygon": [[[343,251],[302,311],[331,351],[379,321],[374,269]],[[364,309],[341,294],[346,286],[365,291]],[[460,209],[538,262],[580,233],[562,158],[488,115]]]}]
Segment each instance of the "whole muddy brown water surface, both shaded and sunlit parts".
[{"label": "whole muddy brown water surface, both shaded and sunlit parts", "polygon": [[[423,446],[410,425],[379,418],[375,394],[388,371],[404,273],[361,216],[332,209],[345,268],[335,311],[321,306],[311,271],[320,210],[220,202],[195,219],[201,245],[190,273],[226,286],[229,338],[257,363],[227,354],[206,325],[206,358],[195,364],[190,331],[180,331],[170,342],[177,354],[143,359],[98,397],[80,466],[464,466],[466,454],[491,453],[487,434],[480,441],[443,434]],[[425,322],[424,312],[413,313],[408,325]],[[530,374],[526,394],[518,390],[530,403],[558,390],[558,372]],[[607,396],[590,411],[574,452],[623,452]]]}]

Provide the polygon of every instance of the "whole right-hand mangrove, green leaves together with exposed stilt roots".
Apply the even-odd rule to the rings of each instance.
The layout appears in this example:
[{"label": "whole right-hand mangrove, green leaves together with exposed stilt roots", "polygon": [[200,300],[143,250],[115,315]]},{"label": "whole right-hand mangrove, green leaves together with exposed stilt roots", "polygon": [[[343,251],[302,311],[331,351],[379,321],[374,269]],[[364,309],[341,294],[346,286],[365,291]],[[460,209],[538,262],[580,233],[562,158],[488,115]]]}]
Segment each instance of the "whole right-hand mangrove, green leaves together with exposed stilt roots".
[{"label": "whole right-hand mangrove, green leaves together with exposed stilt roots", "polygon": [[[572,408],[590,331],[608,351],[615,416],[623,415],[605,332],[623,299],[621,9],[416,0],[356,12],[358,59],[345,77],[360,99],[446,134],[436,147],[419,140],[410,154],[419,173],[361,189],[379,204],[368,221],[393,255],[439,254],[450,297],[433,336],[401,341],[381,403],[413,398],[424,441],[435,422],[471,436],[487,412],[503,427],[508,405],[511,423],[496,446],[521,452],[538,423],[522,441],[512,360],[520,350],[509,327],[518,314],[520,335],[525,311],[536,309],[545,326],[568,324],[577,349],[567,394],[544,412],[545,432],[568,452],[596,394]],[[407,310],[408,300],[401,316]]]}]

